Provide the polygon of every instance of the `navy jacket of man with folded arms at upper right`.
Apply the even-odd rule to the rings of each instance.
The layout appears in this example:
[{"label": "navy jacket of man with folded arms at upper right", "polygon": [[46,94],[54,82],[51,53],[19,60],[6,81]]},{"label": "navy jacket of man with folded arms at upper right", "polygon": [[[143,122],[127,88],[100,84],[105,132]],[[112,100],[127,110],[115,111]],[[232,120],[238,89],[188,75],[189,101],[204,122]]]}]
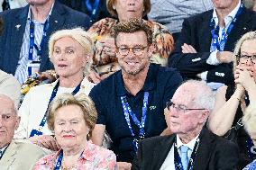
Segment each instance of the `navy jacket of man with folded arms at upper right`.
[{"label": "navy jacket of man with folded arms at upper right", "polygon": [[[212,66],[206,63],[210,55],[212,41],[210,21],[213,10],[200,13],[184,20],[181,34],[176,42],[174,51],[169,56],[169,67],[176,67],[183,78],[197,78],[198,73],[208,71],[207,82],[233,84],[233,64]],[[256,30],[256,13],[243,8],[237,18],[233,30],[228,35],[224,50],[232,51],[235,43],[248,31]],[[197,53],[183,54],[181,46],[192,45]]]}]

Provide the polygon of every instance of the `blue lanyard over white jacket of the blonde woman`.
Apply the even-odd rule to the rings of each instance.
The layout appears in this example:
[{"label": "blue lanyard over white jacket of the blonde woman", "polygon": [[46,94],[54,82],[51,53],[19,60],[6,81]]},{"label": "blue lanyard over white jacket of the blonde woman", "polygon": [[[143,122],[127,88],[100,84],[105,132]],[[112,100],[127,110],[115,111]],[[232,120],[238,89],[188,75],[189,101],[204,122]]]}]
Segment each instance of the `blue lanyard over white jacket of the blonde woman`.
[{"label": "blue lanyard over white jacket of the blonde woman", "polygon": [[[80,86],[81,86],[81,84],[79,84],[79,85],[74,89],[74,91],[73,91],[71,94],[73,94],[73,95],[77,94],[78,91],[80,90]],[[47,111],[48,111],[48,109],[49,109],[49,106],[50,106],[51,101],[54,99],[54,97],[56,96],[56,94],[57,94],[57,92],[58,92],[58,88],[59,88],[59,81],[57,82],[57,84],[54,86],[54,88],[53,88],[53,90],[52,90],[52,93],[51,93],[51,95],[50,95],[50,101],[49,101],[49,103],[48,103],[46,112],[45,112],[45,114],[44,114],[44,116],[43,116],[43,118],[42,118],[42,120],[41,120],[40,125],[39,125],[40,128],[42,128],[42,127],[45,125],[45,123],[46,123]],[[41,132],[41,131],[38,131],[38,130],[32,130],[30,137],[33,137],[33,136],[35,136],[35,135],[42,135],[42,132]]]}]

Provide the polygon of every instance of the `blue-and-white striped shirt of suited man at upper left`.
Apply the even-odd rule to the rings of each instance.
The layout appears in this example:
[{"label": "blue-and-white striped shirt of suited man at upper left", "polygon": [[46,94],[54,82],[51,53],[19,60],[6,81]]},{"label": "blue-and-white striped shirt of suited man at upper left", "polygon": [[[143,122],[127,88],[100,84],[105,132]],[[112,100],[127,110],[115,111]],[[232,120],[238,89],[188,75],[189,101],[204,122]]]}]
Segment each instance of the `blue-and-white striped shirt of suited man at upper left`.
[{"label": "blue-and-white striped shirt of suited man at upper left", "polygon": [[[50,13],[52,11],[53,4],[50,9]],[[24,81],[28,78],[28,64],[31,62],[29,61],[29,49],[30,49],[30,22],[31,22],[31,8],[29,9],[25,32],[23,34],[23,45],[20,52],[20,58],[18,61],[18,66],[15,71],[15,77],[17,80],[23,84]],[[43,25],[44,22],[50,17],[50,13],[48,13],[48,17],[43,22],[37,22],[36,20],[33,20],[34,22],[34,43],[37,45],[37,47],[40,47],[41,39],[42,39],[42,33],[43,33]],[[45,44],[44,44],[45,45]],[[37,57],[37,50],[33,48],[33,59]]]}]

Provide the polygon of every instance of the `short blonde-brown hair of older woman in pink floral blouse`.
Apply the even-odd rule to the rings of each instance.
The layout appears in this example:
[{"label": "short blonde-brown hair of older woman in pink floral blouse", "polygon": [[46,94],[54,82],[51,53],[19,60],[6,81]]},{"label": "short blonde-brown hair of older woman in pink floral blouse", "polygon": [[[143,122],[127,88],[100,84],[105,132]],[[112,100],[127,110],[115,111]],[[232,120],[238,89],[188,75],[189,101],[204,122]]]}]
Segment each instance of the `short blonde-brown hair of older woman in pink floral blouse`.
[{"label": "short blonde-brown hair of older woman in pink floral blouse", "polygon": [[89,133],[87,135],[87,140],[92,137],[92,130],[94,130],[96,125],[97,112],[95,103],[88,97],[86,94],[78,94],[74,96],[73,94],[65,93],[59,94],[54,100],[50,103],[50,107],[47,113],[47,123],[48,128],[51,131],[54,131],[54,120],[55,113],[59,108],[68,106],[68,105],[77,105],[83,112],[84,120],[89,128]]}]

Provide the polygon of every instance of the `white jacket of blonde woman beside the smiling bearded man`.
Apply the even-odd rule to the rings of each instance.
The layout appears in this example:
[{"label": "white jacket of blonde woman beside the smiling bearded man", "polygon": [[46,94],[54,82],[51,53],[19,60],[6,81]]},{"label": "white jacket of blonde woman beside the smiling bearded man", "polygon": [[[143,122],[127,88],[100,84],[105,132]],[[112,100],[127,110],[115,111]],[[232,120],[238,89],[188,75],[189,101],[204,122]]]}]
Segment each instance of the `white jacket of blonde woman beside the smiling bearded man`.
[{"label": "white jacket of blonde woman beside the smiling bearded man", "polygon": [[[21,123],[18,130],[15,131],[14,139],[29,138],[32,130],[40,130],[41,120],[47,110],[50,95],[54,86],[59,80],[52,84],[37,85],[30,89],[25,95],[23,103],[18,111],[21,116]],[[95,84],[90,83],[85,77],[81,83],[78,94],[89,94]],[[60,87],[57,95],[62,93],[71,93],[74,88]],[[76,94],[76,95],[78,95]],[[47,122],[40,130],[43,135],[51,135],[52,132],[48,129]]]}]

